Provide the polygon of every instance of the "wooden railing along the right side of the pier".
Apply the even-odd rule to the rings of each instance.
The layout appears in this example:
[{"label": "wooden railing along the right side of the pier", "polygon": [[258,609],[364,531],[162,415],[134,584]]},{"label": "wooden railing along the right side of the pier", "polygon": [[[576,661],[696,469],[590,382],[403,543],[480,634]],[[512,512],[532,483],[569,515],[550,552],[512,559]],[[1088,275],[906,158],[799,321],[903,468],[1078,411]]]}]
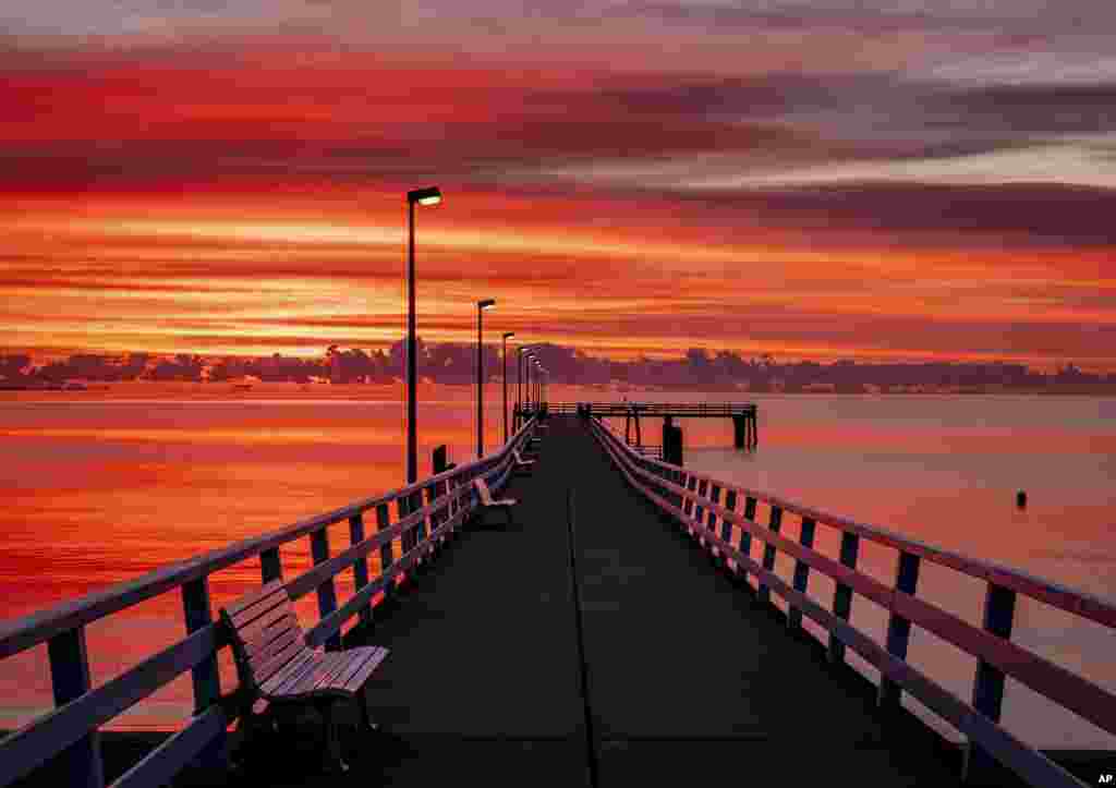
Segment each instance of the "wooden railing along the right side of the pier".
[{"label": "wooden railing along the right side of the pier", "polygon": [[[701,539],[706,548],[718,555],[723,566],[734,573],[754,576],[757,590],[762,599],[770,602],[772,590],[783,598],[789,627],[801,626],[801,617],[806,615],[828,631],[828,650],[833,661],[841,661],[847,646],[875,666],[881,672],[878,703],[882,708],[897,707],[902,692],[906,691],[965,734],[969,739],[965,775],[984,769],[988,759],[992,758],[1032,785],[1075,788],[1084,785],[1000,724],[1004,676],[1012,676],[1109,733],[1116,733],[1116,695],[1012,643],[1016,595],[1022,594],[1109,628],[1116,628],[1116,606],[1085,592],[1010,567],[970,558],[884,528],[828,515],[777,496],[729,484],[704,473],[642,457],[600,420],[590,419],[589,423],[593,434],[633,487],[658,509],[677,520],[691,535]],[[756,521],[759,503],[769,508],[770,519],[767,526]],[[739,510],[741,506],[742,511]],[[779,532],[787,513],[801,519],[797,541]],[[814,549],[814,535],[818,523],[841,531],[839,560]],[[733,527],[740,532],[737,544],[732,542]],[[762,563],[751,558],[752,539],[758,539],[763,545]],[[898,551],[893,586],[857,570],[860,539]],[[787,584],[775,571],[777,550],[782,550],[795,559],[791,584]],[[918,569],[923,560],[949,567],[987,584],[982,627],[973,626],[916,596]],[[829,609],[807,596],[811,570],[829,576],[835,583]],[[885,645],[876,643],[848,623],[854,593],[888,611]],[[978,669],[971,703],[964,702],[906,662],[912,624],[977,657]]]}]

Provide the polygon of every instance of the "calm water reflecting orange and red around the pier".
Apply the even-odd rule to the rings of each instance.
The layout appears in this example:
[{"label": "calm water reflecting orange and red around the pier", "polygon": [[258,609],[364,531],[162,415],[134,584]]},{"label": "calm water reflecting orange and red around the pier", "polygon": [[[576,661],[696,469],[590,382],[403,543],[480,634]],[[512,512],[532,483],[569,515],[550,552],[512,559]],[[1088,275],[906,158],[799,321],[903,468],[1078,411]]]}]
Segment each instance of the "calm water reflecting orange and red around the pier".
[{"label": "calm water reflecting orange and red around the pier", "polygon": [[[240,395],[251,400],[213,391],[182,387],[154,395],[155,390],[134,387],[123,394],[0,401],[0,493],[7,502],[0,515],[0,617],[23,615],[403,482],[397,391],[359,400],[338,398],[329,387],[321,390],[328,396],[292,386],[260,386]],[[551,395],[610,398],[584,390],[557,388]],[[502,436],[499,396],[497,387],[485,394],[493,405],[485,416],[489,446]],[[685,398],[721,401],[725,395]],[[758,402],[758,451],[733,450],[728,422],[691,420],[682,423],[686,464],[1116,602],[1116,542],[1108,538],[1116,511],[1116,401],[760,395]],[[450,446],[456,462],[475,452],[474,407],[470,388],[424,393],[421,472],[429,471],[439,443]],[[645,441],[657,443],[657,431],[648,421]],[[1018,489],[1030,498],[1022,511],[1014,507]],[[762,509],[759,513],[764,516]],[[789,519],[785,530],[797,537],[797,521]],[[330,529],[330,541],[345,545],[346,526]],[[837,535],[819,528],[822,551],[835,555],[836,544]],[[282,558],[288,575],[308,564],[305,545],[285,549]],[[895,556],[862,544],[860,565],[891,583]],[[778,569],[789,578],[790,561],[781,560]],[[258,577],[253,561],[219,573],[211,580],[214,606]],[[352,584],[341,580],[344,600]],[[833,584],[815,575],[810,592],[828,605]],[[952,570],[924,564],[920,595],[980,622],[981,584]],[[311,619],[312,597],[300,605]],[[95,681],[180,637],[180,606],[177,595],[169,594],[90,626]],[[860,598],[853,604],[853,623],[877,636],[886,628],[883,611]],[[1013,640],[1116,691],[1114,633],[1021,602]],[[915,630],[910,659],[969,699],[971,657]],[[222,665],[222,672],[231,684],[231,665]],[[0,663],[0,728],[49,708],[42,647]],[[184,676],[113,727],[176,727],[190,712],[189,698]],[[1116,749],[1113,737],[1010,680],[1004,719],[1041,747]]]}]

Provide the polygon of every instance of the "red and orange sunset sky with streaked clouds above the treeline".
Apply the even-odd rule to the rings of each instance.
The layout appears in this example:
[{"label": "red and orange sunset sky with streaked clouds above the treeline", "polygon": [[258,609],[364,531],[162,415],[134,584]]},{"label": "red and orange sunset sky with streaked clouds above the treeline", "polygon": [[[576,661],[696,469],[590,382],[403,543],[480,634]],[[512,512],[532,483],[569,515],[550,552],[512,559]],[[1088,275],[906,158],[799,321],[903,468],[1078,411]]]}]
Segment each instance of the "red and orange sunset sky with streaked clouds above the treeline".
[{"label": "red and orange sunset sky with streaked clouds above the treeline", "polygon": [[1116,4],[7,0],[0,350],[1116,369]]}]

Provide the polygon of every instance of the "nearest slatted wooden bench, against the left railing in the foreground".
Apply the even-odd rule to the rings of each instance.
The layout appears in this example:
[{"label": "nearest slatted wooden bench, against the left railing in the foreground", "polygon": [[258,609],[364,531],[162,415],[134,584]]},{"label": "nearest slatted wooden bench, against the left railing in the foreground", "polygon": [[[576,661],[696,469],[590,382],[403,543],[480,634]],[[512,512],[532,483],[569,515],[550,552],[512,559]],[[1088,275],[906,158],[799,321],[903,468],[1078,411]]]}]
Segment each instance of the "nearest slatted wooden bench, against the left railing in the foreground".
[{"label": "nearest slatted wooden bench, against the left railing in the foreground", "polygon": [[[338,700],[357,701],[364,727],[376,730],[362,690],[387,656],[387,648],[362,646],[341,652],[310,648],[281,580],[272,580],[221,608],[221,621],[232,641],[237,674],[244,693],[246,727],[258,728],[264,722],[271,728],[277,709],[311,705],[323,718],[326,769],[346,771],[348,766],[340,755],[333,707]],[[260,707],[266,707],[263,714],[257,714]]]}]

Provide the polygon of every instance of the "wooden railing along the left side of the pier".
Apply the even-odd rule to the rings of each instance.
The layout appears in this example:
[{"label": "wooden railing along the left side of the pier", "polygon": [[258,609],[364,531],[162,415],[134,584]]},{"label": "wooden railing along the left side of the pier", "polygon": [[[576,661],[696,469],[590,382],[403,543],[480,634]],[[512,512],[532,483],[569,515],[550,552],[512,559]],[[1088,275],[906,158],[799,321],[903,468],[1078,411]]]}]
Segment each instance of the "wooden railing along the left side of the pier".
[{"label": "wooden railing along the left side of the pier", "polygon": [[[221,694],[218,652],[227,634],[213,621],[208,578],[213,573],[259,556],[261,584],[282,579],[279,548],[309,537],[314,566],[286,582],[291,598],[317,592],[319,619],[307,631],[311,647],[340,647],[340,632],[354,616],[371,621],[373,597],[394,593],[396,579],[429,560],[439,544],[479,506],[473,479],[499,491],[514,468],[513,451],[531,436],[528,421],[501,449],[469,464],[367,498],[325,515],[246,539],[104,590],[0,622],[0,660],[46,643],[56,708],[0,740],[0,786],[7,786],[52,758],[66,759],[69,785],[104,785],[98,727],[191,671],[194,714],[190,722],[113,782],[158,786],[199,757],[223,750],[228,724],[241,712],[239,689]],[[393,522],[392,504],[395,504]],[[376,532],[365,536],[364,515],[375,511]],[[327,528],[347,521],[349,546],[330,555]],[[394,545],[398,542],[398,556]],[[368,556],[378,550],[381,571],[368,574]],[[337,605],[334,578],[353,568],[355,593]],[[175,588],[182,589],[186,636],[93,688],[85,628]]]}]

